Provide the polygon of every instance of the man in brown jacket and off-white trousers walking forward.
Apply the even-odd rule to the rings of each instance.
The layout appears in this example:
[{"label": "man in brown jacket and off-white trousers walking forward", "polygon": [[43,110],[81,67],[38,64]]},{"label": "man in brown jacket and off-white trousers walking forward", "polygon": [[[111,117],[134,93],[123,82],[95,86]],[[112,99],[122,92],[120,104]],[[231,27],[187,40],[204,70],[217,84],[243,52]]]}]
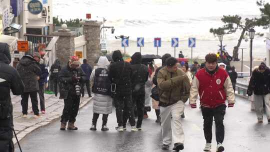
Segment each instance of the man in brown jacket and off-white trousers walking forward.
[{"label": "man in brown jacket and off-white trousers walking forward", "polygon": [[180,115],[184,110],[182,90],[187,88],[189,93],[189,80],[184,71],[177,68],[174,57],[166,59],[166,66],[157,74],[157,88],[159,93],[159,106],[161,117],[162,149],[168,149],[171,141],[175,151],[184,148],[184,132]]}]

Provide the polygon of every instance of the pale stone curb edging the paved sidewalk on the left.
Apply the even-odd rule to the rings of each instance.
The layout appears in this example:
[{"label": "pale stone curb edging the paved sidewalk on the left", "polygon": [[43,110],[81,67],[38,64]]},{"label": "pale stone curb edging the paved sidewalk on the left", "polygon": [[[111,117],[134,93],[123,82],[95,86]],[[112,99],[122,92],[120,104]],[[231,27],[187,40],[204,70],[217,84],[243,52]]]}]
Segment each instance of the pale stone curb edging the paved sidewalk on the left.
[{"label": "pale stone curb edging the paved sidewalk on the left", "polygon": [[[81,103],[79,105],[79,109],[82,108],[83,106],[85,106],[87,103],[89,103],[90,99],[91,98],[82,99]],[[59,107],[59,108],[63,108],[63,107]],[[56,120],[58,120],[60,118],[60,116],[62,114],[62,113],[59,113],[59,112],[52,112],[52,113],[54,113],[54,115],[52,115],[50,117],[47,117],[45,120],[42,120],[42,121],[40,121],[40,122],[38,122],[38,123],[36,123],[34,125],[28,126],[28,127],[26,127],[25,129],[23,129],[23,130],[21,130],[19,132],[16,132],[18,140],[20,141],[26,135],[28,135],[29,133],[31,133],[32,131],[34,131],[34,130],[40,128],[40,127],[44,127],[46,125],[49,125],[52,122],[55,122]],[[13,140],[14,144],[17,143],[15,135],[13,135],[12,140]]]}]

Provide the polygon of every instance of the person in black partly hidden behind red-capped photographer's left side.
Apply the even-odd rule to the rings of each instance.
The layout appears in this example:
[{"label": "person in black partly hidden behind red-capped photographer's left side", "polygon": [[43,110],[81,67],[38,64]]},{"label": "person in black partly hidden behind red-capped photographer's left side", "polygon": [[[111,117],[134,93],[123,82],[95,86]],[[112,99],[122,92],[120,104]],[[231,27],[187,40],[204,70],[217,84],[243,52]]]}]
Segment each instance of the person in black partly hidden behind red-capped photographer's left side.
[{"label": "person in black partly hidden behind red-capped photographer's left side", "polygon": [[53,92],[55,94],[55,96],[57,96],[58,93],[58,74],[61,70],[61,66],[60,66],[60,60],[56,59],[54,61],[54,63],[51,65],[50,67],[50,76],[49,76],[49,81],[50,81],[50,85],[51,88],[53,89]]}]

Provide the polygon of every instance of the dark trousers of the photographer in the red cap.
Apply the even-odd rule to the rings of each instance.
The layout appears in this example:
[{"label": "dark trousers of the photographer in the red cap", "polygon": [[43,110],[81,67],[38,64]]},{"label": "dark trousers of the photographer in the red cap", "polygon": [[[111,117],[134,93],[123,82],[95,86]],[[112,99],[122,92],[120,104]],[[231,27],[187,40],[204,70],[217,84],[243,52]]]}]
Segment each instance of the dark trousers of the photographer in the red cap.
[{"label": "dark trousers of the photographer in the red cap", "polygon": [[64,108],[61,116],[61,122],[75,122],[79,108],[80,96],[74,93],[69,93],[64,99]]}]

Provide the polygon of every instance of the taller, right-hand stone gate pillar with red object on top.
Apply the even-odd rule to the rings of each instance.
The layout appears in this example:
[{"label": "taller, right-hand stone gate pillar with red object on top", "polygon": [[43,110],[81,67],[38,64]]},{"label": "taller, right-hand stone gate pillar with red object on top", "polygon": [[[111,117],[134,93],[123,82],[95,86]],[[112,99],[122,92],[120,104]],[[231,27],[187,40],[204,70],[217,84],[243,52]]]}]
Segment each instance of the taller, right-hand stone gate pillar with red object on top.
[{"label": "taller, right-hand stone gate pillar with red object on top", "polygon": [[95,60],[100,55],[100,25],[96,20],[85,20],[83,24],[83,34],[86,40],[86,59],[91,65],[95,65]]}]

